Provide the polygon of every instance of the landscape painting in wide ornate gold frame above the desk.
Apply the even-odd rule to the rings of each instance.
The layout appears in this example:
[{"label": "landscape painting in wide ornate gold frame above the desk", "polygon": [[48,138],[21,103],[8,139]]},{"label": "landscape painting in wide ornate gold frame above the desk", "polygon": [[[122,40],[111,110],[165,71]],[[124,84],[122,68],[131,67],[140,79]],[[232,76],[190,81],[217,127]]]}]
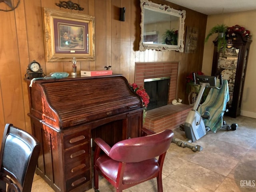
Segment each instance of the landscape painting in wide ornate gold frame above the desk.
[{"label": "landscape painting in wide ornate gold frame above the desk", "polygon": [[95,60],[94,16],[44,8],[47,62]]}]

